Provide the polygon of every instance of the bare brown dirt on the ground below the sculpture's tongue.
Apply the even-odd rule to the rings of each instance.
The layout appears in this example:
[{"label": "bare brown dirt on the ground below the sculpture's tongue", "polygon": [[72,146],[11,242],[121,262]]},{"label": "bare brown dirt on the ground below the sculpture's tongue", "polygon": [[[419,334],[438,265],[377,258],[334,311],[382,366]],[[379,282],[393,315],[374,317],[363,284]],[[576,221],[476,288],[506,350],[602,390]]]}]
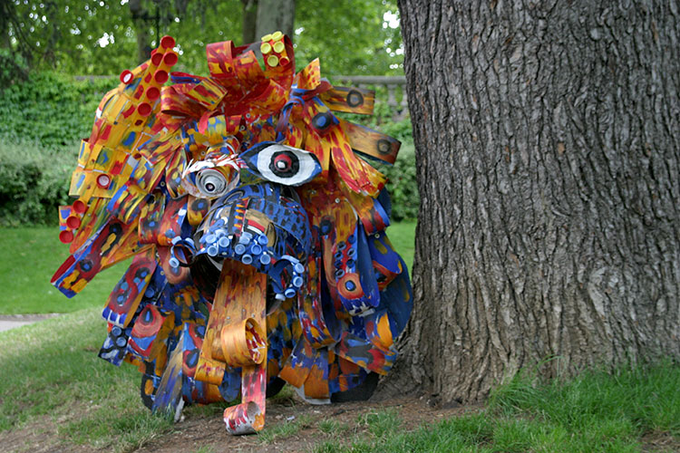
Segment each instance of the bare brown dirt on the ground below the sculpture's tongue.
[{"label": "bare brown dirt on the ground below the sculpture's tongue", "polygon": [[[172,432],[151,440],[138,453],[190,453],[202,451],[263,451],[302,452],[329,439],[351,441],[356,436],[367,435],[365,424],[359,420],[364,414],[383,410],[393,411],[402,419],[403,429],[416,429],[424,423],[459,415],[481,407],[433,408],[427,399],[402,398],[383,401],[335,403],[313,406],[296,396],[267,400],[267,425],[260,435],[230,436],[219,413],[207,414],[186,410],[182,421]],[[319,428],[323,420],[333,420],[342,427],[342,435],[325,433]],[[57,421],[44,418],[22,429],[0,433],[0,452],[32,453],[85,453],[92,446],[73,445],[57,434]],[[293,427],[297,428],[293,428]],[[326,429],[327,430],[327,429]],[[335,441],[334,440],[334,441]],[[100,451],[108,451],[104,448]],[[95,450],[96,451],[96,450]]]}]

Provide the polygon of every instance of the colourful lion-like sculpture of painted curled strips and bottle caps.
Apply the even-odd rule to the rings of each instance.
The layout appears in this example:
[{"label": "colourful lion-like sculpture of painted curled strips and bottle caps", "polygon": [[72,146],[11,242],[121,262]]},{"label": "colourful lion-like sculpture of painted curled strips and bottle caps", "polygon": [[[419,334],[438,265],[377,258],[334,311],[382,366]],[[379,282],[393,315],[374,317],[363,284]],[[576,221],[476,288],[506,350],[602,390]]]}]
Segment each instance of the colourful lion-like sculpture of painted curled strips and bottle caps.
[{"label": "colourful lion-like sculpture of painted curled strips and bottle caps", "polygon": [[280,32],[209,44],[209,77],[170,74],[174,44],[102,99],[52,283],[72,297],[134,256],[99,355],[139,367],[151,410],[240,395],[224,419],[241,434],[285,382],[310,402],[365,398],[412,309],[385,179],[358,157],[392,163],[400,143],[332,113],[371,114],[374,93],[333,87],[318,60],[295,74]]}]

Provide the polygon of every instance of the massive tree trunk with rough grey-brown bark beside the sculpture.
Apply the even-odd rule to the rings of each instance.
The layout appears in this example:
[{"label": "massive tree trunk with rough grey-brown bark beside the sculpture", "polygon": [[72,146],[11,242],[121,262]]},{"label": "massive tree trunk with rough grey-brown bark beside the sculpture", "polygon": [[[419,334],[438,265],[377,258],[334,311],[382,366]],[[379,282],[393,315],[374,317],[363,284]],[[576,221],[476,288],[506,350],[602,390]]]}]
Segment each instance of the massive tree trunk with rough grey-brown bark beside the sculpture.
[{"label": "massive tree trunk with rough grey-brown bark beside the sculpture", "polygon": [[680,358],[680,8],[597,4],[399,2],[421,207],[387,389]]}]

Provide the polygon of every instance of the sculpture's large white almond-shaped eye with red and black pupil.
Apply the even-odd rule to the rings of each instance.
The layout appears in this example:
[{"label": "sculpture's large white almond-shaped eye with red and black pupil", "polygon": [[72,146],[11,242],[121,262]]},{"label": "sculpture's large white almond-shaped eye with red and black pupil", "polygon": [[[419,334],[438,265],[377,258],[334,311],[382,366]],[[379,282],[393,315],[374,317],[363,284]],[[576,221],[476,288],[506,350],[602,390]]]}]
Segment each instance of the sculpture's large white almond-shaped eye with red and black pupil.
[{"label": "sculpture's large white almond-shaped eye with red and black pupil", "polygon": [[240,158],[261,178],[286,186],[300,186],[321,172],[311,152],[273,142],[258,143]]}]

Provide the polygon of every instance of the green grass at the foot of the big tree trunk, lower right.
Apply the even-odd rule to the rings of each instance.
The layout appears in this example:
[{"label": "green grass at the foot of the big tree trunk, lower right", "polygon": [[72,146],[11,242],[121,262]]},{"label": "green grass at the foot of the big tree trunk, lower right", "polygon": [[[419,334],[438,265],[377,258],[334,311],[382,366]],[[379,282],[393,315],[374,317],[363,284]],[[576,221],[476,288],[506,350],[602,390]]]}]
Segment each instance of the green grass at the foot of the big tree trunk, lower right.
[{"label": "green grass at the foot of the big tree trunk, lower right", "polygon": [[359,420],[368,437],[327,440],[315,451],[641,452],[646,436],[671,438],[678,448],[679,388],[680,366],[670,362],[587,371],[569,381],[537,383],[520,374],[479,413],[411,432],[403,432],[398,414],[368,414]]}]

